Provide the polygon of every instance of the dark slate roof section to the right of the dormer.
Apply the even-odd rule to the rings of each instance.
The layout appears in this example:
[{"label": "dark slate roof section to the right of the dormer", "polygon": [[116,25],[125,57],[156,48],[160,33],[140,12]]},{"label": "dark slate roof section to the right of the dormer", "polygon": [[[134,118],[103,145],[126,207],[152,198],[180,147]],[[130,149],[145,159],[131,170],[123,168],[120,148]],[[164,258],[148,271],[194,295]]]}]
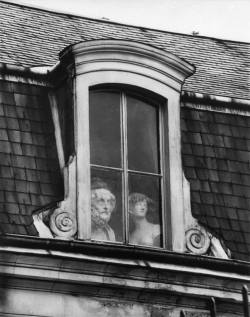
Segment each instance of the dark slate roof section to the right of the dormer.
[{"label": "dark slate roof section to the right of the dormer", "polygon": [[250,117],[182,108],[182,155],[191,209],[250,261]]}]

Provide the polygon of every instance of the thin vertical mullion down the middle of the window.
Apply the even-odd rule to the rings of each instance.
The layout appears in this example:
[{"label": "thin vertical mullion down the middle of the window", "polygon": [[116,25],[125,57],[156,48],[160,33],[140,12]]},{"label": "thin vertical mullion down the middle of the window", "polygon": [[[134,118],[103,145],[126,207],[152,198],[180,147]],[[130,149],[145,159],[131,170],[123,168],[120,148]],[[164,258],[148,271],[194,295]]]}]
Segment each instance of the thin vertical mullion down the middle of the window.
[{"label": "thin vertical mullion down the middle of the window", "polygon": [[124,221],[124,241],[128,243],[128,143],[127,143],[127,104],[126,95],[121,93],[121,127],[122,127],[122,147],[123,147],[123,221]]}]

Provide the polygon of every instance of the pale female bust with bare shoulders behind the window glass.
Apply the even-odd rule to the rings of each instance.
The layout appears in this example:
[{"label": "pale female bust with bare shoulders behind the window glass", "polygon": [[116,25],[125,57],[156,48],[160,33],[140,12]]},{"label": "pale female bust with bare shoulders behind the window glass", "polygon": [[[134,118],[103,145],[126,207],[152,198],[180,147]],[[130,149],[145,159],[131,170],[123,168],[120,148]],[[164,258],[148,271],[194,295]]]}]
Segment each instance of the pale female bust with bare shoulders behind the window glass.
[{"label": "pale female bust with bare shoulders behind the window glass", "polygon": [[146,218],[148,211],[155,209],[154,206],[155,202],[144,194],[129,195],[129,214],[134,225],[129,235],[130,243],[160,247],[160,225],[153,224]]}]

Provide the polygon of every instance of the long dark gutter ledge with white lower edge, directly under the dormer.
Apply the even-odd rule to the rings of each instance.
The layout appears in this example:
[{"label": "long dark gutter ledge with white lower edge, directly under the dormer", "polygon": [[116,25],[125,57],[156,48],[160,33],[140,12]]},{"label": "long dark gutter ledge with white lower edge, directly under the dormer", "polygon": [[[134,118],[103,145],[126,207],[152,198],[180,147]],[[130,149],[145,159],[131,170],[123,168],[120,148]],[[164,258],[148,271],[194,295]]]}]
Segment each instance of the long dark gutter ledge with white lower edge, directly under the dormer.
[{"label": "long dark gutter ledge with white lower edge, directly under the dormer", "polygon": [[[21,248],[20,248],[21,246]],[[246,279],[250,276],[250,263],[232,260],[221,259],[210,256],[200,256],[189,253],[171,252],[162,249],[145,248],[139,246],[121,246],[110,243],[91,243],[80,240],[61,240],[61,239],[44,239],[38,237],[21,236],[21,235],[4,235],[1,237],[0,244],[2,251],[11,250],[26,250],[26,253],[47,254],[46,250],[51,252],[63,252],[65,257],[73,256],[73,258],[81,258],[81,256],[92,256],[98,259],[110,259],[110,261],[134,261],[138,260],[146,262],[158,263],[159,267],[164,265],[178,265],[181,263],[183,267],[189,268],[188,271],[193,270],[208,270],[204,271],[207,275],[223,274],[223,276],[232,277],[233,274],[242,276]],[[23,252],[23,251],[20,251]],[[217,273],[216,273],[217,272]],[[245,276],[245,277],[244,277]],[[237,277],[238,278],[238,277]]]}]

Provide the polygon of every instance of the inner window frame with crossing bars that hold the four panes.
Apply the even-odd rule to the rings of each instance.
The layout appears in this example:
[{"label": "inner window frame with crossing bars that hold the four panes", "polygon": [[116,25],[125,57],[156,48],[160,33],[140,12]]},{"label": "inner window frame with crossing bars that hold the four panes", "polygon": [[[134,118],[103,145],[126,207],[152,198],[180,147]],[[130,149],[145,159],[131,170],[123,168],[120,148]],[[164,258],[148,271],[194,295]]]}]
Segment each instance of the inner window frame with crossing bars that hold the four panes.
[{"label": "inner window frame with crossing bars that hold the four panes", "polygon": [[[122,175],[122,202],[123,202],[123,211],[122,211],[122,218],[123,218],[123,241],[116,241],[112,243],[122,244],[122,245],[135,245],[129,242],[129,217],[128,217],[128,195],[129,195],[129,174],[137,174],[137,175],[144,175],[144,176],[155,176],[158,177],[160,183],[160,227],[162,232],[162,242],[161,247],[154,247],[152,248],[167,248],[167,238],[165,236],[166,228],[167,228],[167,210],[164,199],[164,193],[168,192],[168,187],[166,187],[166,169],[165,166],[168,166],[169,162],[167,161],[167,156],[165,153],[165,121],[164,118],[164,105],[167,107],[167,101],[164,100],[161,96],[153,94],[152,92],[143,90],[139,87],[134,87],[130,85],[97,85],[94,87],[89,88],[89,93],[91,92],[116,92],[119,93],[119,108],[120,108],[120,132],[121,132],[121,167],[112,167],[112,166],[104,166],[98,164],[92,164],[90,162],[90,173],[92,167],[95,169],[103,169],[103,170],[114,170],[121,172]],[[132,170],[129,169],[128,166],[128,135],[127,135],[127,97],[133,97],[138,100],[144,101],[145,103],[151,104],[157,108],[157,152],[158,152],[158,164],[159,164],[159,173],[151,173],[146,171],[139,171],[139,170]],[[165,119],[165,120],[164,120]],[[91,240],[95,241],[95,240]],[[109,241],[102,241],[103,243],[109,243]],[[143,245],[138,245],[144,247]],[[149,247],[149,246],[145,246]]]}]

